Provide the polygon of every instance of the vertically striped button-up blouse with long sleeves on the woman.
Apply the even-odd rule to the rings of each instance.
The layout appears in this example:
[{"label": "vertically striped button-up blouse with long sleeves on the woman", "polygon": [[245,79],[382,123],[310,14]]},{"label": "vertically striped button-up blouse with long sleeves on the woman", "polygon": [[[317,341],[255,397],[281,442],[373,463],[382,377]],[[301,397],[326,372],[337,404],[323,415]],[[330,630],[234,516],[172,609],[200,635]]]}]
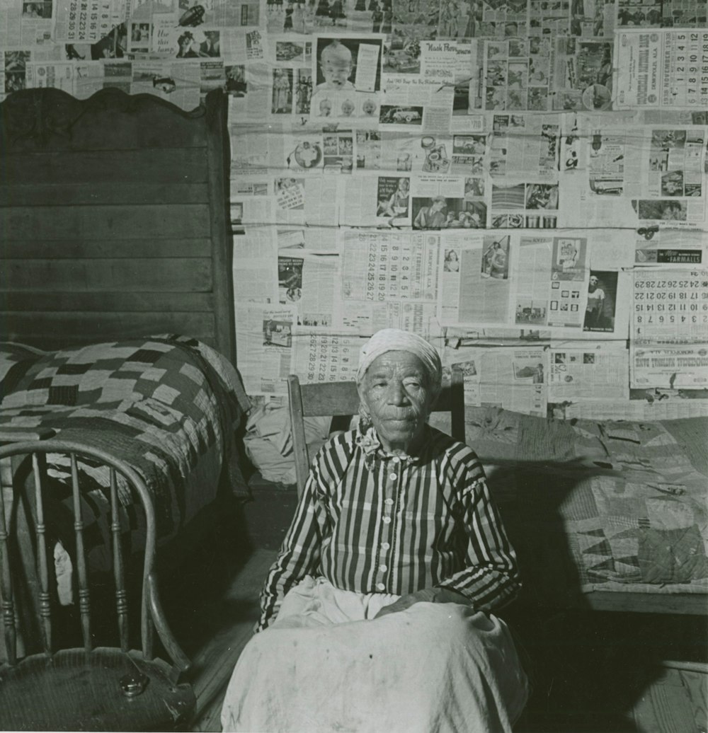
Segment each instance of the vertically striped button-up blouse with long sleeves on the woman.
[{"label": "vertically striped button-up blouse with long sleeves on the woman", "polygon": [[478,457],[425,430],[412,457],[384,454],[373,428],[325,443],[266,578],[257,630],[305,575],[360,593],[449,588],[481,611],[517,594],[516,555]]}]

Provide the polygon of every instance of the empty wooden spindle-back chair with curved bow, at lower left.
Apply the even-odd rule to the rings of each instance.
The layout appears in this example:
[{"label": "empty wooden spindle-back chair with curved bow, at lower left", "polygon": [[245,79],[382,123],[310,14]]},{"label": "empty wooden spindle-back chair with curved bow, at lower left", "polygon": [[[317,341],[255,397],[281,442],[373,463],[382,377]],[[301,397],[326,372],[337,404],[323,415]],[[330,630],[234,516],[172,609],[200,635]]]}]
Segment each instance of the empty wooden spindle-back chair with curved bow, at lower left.
[{"label": "empty wooden spindle-back chair with curved bow, at lower left", "polygon": [[[3,437],[7,439],[0,435],[0,440]],[[73,537],[65,539],[72,551],[75,610],[68,618],[78,626],[73,630],[67,628],[67,609],[59,600],[56,545],[48,537],[49,453],[67,456],[70,467],[65,492],[70,492],[73,505]],[[87,562],[80,463],[108,469],[112,591],[97,592]],[[183,726],[196,701],[190,685],[178,684],[189,660],[161,608],[154,573],[155,514],[141,476],[102,450],[53,438],[0,446],[0,466],[0,599],[6,657],[0,663],[0,729],[140,731]],[[145,512],[142,577],[135,583],[121,537],[119,489],[125,485]],[[103,576],[101,583],[106,583]],[[112,595],[112,612],[98,623],[93,605],[98,597],[105,600],[106,593]],[[97,646],[97,638],[109,641],[96,633],[99,626],[104,633],[106,618],[114,626],[114,641]],[[155,631],[171,665],[156,658]]]}]

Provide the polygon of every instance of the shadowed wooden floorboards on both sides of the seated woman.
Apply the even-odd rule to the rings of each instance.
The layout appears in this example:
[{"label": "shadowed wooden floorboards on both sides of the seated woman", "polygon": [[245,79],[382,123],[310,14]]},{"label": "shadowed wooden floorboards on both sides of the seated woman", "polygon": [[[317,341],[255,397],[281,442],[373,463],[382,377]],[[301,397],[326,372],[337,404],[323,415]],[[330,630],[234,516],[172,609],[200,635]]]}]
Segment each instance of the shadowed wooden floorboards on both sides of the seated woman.
[{"label": "shadowed wooden floorboards on both sides of the seated woman", "polygon": [[[221,730],[225,688],[252,634],[275,556],[272,542],[254,548],[239,539],[243,531],[214,534],[179,578],[178,599],[167,600],[181,604],[173,628],[194,660],[194,731]],[[708,733],[707,675],[662,666],[667,659],[706,660],[704,619],[519,608],[505,615],[533,676],[518,733]]]}]

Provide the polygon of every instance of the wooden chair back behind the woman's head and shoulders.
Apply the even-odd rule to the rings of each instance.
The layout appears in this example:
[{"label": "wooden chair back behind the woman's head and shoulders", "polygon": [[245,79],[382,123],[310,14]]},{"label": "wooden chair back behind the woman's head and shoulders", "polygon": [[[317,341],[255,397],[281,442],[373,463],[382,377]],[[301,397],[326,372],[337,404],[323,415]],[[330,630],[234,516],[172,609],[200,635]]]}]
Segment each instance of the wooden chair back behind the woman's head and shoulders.
[{"label": "wooden chair back behind the woman's head and shoulders", "polygon": [[[351,419],[359,412],[359,393],[355,382],[300,384],[297,375],[288,376],[288,408],[290,409],[293,454],[298,496],[302,495],[310,471],[310,455],[304,431],[306,417],[332,417],[332,428],[344,426],[341,419]],[[450,383],[440,392],[433,412],[450,413],[450,434],[464,443],[464,382],[462,370],[453,366]],[[340,420],[337,420],[340,419]]]}]

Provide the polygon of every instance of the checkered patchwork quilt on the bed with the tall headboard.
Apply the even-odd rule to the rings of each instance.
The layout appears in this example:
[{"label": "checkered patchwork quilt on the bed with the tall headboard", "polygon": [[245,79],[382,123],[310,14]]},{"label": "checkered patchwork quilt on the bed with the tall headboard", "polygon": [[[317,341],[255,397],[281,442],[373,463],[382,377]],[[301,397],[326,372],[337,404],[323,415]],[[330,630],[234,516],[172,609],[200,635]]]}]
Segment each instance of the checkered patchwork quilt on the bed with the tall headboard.
[{"label": "checkered patchwork quilt on the bed with the tall headboard", "polygon": [[[51,428],[57,438],[103,449],[135,468],[153,497],[159,541],[213,501],[223,468],[234,490],[245,490],[234,432],[248,398],[230,362],[195,339],[163,334],[53,353],[4,343],[0,399],[1,428]],[[70,506],[69,459],[48,460],[52,498]],[[99,537],[108,531],[101,521],[109,510],[108,471],[88,462],[79,470],[92,544],[100,548],[108,539]],[[124,484],[119,493],[121,520],[139,536],[142,512]]]}]

